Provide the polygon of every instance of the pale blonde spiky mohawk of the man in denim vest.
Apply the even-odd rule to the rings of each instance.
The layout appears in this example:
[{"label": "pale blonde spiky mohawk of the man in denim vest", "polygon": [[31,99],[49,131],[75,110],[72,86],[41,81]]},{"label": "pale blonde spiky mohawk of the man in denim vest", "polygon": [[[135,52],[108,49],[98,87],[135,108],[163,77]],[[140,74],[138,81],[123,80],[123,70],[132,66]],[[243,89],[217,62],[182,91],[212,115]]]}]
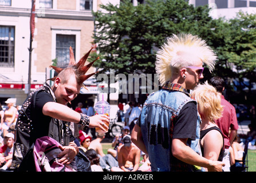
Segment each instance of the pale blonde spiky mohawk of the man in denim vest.
[{"label": "pale blonde spiky mohawk of the man in denim vest", "polygon": [[[197,35],[173,34],[156,53],[156,73],[158,74],[161,86],[170,81],[172,67],[182,69],[186,66],[192,66],[193,61],[188,59],[188,57],[184,58],[183,55],[199,57],[209,67],[210,71],[214,69],[217,59],[214,51],[210,46],[207,46],[206,41]],[[183,59],[186,60],[184,63],[182,63]]]}]

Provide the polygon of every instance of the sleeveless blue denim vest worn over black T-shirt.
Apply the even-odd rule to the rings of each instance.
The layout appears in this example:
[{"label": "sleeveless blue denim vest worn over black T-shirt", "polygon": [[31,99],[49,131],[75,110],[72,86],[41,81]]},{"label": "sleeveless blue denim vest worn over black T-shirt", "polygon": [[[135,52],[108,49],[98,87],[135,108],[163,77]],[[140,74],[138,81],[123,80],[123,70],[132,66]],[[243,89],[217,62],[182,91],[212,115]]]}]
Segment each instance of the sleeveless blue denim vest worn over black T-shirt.
[{"label": "sleeveless blue denim vest worn over black T-shirt", "polygon": [[[152,93],[145,101],[141,111],[140,127],[152,171],[171,171],[171,125],[188,102],[196,101],[192,100],[188,93],[166,89]],[[198,114],[196,140],[187,141],[187,145],[198,154],[200,122]]]}]

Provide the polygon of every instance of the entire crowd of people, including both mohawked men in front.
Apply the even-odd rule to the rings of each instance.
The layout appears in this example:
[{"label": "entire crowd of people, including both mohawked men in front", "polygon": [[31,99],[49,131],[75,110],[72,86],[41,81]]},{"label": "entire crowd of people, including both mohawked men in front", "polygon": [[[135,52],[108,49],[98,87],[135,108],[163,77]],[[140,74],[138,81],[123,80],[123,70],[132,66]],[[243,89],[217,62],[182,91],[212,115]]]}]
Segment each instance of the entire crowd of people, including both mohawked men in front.
[{"label": "entire crowd of people, including both mohawked men in front", "polygon": [[[174,34],[167,39],[156,54],[156,73],[162,89],[150,94],[143,106],[137,102],[118,105],[124,128],[113,139],[107,154],[102,142],[109,128],[108,116],[94,115],[93,104],[88,109],[80,103],[74,110],[69,108],[82,83],[95,74],[85,75],[94,63],[84,66],[89,53],[76,63],[70,48],[69,66],[52,66],[58,73],[50,79],[53,86],[45,83],[32,92],[18,116],[15,111],[18,120],[13,121],[10,115],[14,114],[11,105],[3,114],[3,170],[45,170],[43,158],[35,160],[33,156],[35,144],[43,137],[47,138],[43,138],[42,147],[48,152],[52,139],[60,144],[61,151],[54,155],[56,165],[68,169],[72,166],[72,170],[76,168],[74,164],[81,169],[79,161],[79,165],[90,162],[94,172],[229,172],[234,160],[241,159],[243,152],[235,141],[235,108],[222,95],[224,79],[217,76],[199,83],[204,68],[214,70],[217,59],[206,41],[191,34]],[[14,124],[15,143],[14,134],[8,132]],[[96,133],[96,127],[101,132]],[[53,154],[48,156],[53,159]]]}]

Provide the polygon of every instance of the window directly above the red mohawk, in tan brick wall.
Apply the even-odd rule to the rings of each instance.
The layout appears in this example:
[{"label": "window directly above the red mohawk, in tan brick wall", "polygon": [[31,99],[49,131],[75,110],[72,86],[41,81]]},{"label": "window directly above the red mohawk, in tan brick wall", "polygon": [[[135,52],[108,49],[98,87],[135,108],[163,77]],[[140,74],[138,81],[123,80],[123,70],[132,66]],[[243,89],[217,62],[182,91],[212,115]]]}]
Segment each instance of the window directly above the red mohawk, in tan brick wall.
[{"label": "window directly above the red mohawk, in tan brick wall", "polygon": [[69,64],[69,47],[72,47],[76,58],[76,35],[56,35],[56,58],[58,67],[66,67]]}]

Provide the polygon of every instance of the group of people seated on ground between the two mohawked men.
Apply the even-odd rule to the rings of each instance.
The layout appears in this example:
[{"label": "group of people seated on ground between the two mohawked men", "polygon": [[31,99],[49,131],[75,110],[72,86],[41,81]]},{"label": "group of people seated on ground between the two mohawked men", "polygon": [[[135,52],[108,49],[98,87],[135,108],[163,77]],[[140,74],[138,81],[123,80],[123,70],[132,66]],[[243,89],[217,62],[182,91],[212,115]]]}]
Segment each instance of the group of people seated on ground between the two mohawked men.
[{"label": "group of people seated on ground between the two mohawked men", "polygon": [[117,134],[113,139],[112,148],[109,148],[107,154],[104,154],[102,142],[105,138],[105,133],[97,133],[96,138],[92,140],[92,137],[80,130],[80,136],[78,138],[80,146],[78,146],[78,149],[85,154],[90,154],[88,158],[90,159],[91,165],[94,165],[92,171],[150,171],[150,163],[147,161],[147,157],[132,143],[130,135],[129,126],[124,126],[123,132]]}]

